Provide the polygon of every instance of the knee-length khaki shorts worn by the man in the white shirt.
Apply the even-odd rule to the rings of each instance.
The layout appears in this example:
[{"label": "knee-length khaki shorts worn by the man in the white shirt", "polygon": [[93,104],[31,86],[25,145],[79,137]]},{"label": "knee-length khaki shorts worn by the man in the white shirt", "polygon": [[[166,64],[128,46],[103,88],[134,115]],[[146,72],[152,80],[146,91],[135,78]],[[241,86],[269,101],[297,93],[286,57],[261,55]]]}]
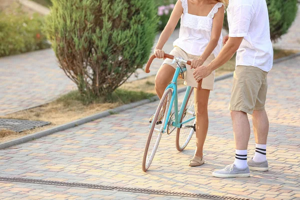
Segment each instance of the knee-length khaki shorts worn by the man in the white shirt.
[{"label": "knee-length khaki shorts worn by the man in the white shirt", "polygon": [[263,110],[267,91],[267,72],[254,66],[235,68],[229,109],[249,114]]}]

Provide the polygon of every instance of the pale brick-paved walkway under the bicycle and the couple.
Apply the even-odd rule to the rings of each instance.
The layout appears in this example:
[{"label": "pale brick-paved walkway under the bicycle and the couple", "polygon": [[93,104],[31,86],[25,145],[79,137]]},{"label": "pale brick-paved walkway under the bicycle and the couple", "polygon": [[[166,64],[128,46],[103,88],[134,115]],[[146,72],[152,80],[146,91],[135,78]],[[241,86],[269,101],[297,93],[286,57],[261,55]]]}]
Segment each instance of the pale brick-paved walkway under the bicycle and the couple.
[{"label": "pale brick-paved walkway under the bicycle and the couple", "polygon": [[[300,199],[300,57],[275,64],[268,75],[270,121],[267,157],[270,170],[249,178],[220,179],[215,169],[233,161],[233,135],[227,109],[232,79],[216,82],[209,101],[205,164],[187,166],[195,138],[178,152],[175,135],[164,135],[150,169],[141,170],[148,117],[157,101],[110,115],[21,145],[0,150],[0,176],[95,183],[205,193],[252,199]],[[182,94],[181,94],[182,95]],[[251,135],[249,157],[254,154]],[[32,199],[109,197],[110,191],[15,182],[0,183],[1,196]],[[132,198],[121,194],[122,198]],[[134,193],[134,198],[157,196]],[[167,196],[164,196],[167,198]],[[102,198],[102,197],[99,197]],[[173,197],[170,197],[173,198]],[[9,198],[7,198],[9,199]]]}]

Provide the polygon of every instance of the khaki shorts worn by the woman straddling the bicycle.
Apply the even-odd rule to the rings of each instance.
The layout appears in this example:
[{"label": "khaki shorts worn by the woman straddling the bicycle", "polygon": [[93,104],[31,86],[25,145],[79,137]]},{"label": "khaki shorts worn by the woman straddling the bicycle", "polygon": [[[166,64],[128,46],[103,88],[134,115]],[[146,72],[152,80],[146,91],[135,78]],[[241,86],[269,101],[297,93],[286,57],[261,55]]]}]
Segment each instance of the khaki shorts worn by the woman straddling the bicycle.
[{"label": "khaki shorts worn by the woman straddling the bicycle", "polygon": [[[180,56],[185,60],[198,59],[200,57],[197,55],[188,54],[184,50],[182,50],[181,48],[179,48],[177,46],[175,46],[173,48],[173,50],[171,50],[170,54],[174,55],[174,56]],[[213,54],[209,55],[209,57],[205,60],[203,65],[208,65],[213,59],[214,59],[214,55]],[[171,61],[172,61],[171,59],[166,58],[162,64],[168,64]],[[177,63],[175,62],[174,64],[168,64],[168,65],[171,65],[172,67],[174,67],[176,69]],[[193,77],[193,74],[192,74],[193,71],[194,71],[194,69],[191,69],[190,66],[187,65],[186,73],[184,74],[184,84],[188,85],[188,86],[192,86],[192,87],[197,87],[198,83],[196,82],[195,78]],[[212,71],[210,73],[210,75],[203,78],[202,84],[201,84],[201,87],[203,89],[213,90],[214,74],[215,74],[215,71]]]}]

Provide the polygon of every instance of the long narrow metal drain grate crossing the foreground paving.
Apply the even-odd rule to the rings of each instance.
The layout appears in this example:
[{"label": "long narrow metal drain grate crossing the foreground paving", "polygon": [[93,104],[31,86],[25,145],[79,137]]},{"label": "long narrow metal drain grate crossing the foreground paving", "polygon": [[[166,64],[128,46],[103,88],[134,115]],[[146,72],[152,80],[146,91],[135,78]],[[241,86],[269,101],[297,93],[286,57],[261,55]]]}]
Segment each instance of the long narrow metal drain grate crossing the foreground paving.
[{"label": "long narrow metal drain grate crossing the foreground paving", "polygon": [[217,195],[209,195],[209,194],[174,192],[174,191],[165,191],[165,190],[156,190],[156,189],[108,186],[108,185],[89,184],[89,183],[80,183],[80,182],[39,180],[39,179],[31,179],[31,178],[0,177],[0,181],[51,184],[51,185],[69,186],[69,187],[84,187],[84,188],[92,188],[92,189],[106,189],[106,190],[128,191],[128,192],[137,192],[137,193],[162,194],[162,195],[170,195],[170,196],[186,196],[186,197],[206,198],[206,199],[215,199],[215,200],[249,200],[248,198],[238,198],[238,197],[230,197],[230,196],[217,196]]}]

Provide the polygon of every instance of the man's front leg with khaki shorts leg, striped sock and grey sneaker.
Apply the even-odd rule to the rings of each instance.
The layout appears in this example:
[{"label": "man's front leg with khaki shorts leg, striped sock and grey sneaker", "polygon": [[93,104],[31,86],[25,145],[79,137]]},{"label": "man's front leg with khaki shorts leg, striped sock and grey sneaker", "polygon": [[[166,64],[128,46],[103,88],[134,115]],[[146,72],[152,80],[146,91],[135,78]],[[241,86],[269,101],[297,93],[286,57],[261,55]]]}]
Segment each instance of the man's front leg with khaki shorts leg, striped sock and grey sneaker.
[{"label": "man's front leg with khaki shorts leg, striped sock and grey sneaker", "polygon": [[216,177],[250,176],[247,164],[247,146],[250,137],[250,124],[247,113],[252,114],[258,91],[263,81],[262,70],[253,66],[236,66],[229,109],[233,122],[235,140],[234,163],[222,170],[214,171]]}]

